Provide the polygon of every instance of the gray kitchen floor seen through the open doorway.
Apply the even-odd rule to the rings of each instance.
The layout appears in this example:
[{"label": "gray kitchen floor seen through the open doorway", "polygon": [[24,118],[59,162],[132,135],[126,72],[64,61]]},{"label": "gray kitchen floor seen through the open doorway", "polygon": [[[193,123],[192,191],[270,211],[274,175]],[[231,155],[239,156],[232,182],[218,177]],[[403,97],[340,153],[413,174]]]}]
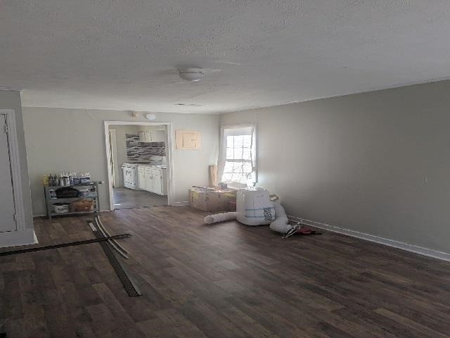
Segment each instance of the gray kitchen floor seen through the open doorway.
[{"label": "gray kitchen floor seen through the open doorway", "polygon": [[128,188],[114,188],[113,190],[115,209],[167,206],[167,196]]}]

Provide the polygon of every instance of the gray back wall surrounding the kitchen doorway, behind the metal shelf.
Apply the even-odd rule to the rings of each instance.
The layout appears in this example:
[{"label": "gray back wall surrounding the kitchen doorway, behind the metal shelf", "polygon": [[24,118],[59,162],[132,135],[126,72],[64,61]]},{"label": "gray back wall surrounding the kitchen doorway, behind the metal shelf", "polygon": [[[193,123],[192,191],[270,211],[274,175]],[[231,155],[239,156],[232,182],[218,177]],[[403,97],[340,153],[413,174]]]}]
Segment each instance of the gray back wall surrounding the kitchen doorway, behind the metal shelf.
[{"label": "gray back wall surrounding the kitchen doorway, behind the metal shelf", "polygon": [[[203,148],[174,150],[175,201],[187,201],[188,187],[207,185],[208,165],[217,163],[219,115],[156,113],[154,122],[172,122],[173,130],[200,130]],[[144,121],[127,111],[65,108],[23,108],[34,215],[45,213],[41,176],[72,170],[89,171],[94,180],[107,181],[103,121]],[[101,208],[108,208],[108,187],[101,189]]]}]

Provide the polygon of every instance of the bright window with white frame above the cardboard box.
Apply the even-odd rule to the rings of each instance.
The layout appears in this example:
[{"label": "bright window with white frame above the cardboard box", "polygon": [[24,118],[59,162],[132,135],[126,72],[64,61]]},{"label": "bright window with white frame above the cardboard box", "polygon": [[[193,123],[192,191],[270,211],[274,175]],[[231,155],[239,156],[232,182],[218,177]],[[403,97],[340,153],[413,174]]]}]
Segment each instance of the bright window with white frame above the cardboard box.
[{"label": "bright window with white frame above the cardboard box", "polygon": [[221,182],[252,184],[255,182],[255,142],[251,126],[222,127]]}]

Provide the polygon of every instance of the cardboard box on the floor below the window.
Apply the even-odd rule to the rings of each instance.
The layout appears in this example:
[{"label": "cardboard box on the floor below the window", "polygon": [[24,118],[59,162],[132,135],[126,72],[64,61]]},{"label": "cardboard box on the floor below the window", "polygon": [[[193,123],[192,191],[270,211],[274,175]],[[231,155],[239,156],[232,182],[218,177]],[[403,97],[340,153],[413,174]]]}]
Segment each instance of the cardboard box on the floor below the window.
[{"label": "cardboard box on the floor below the window", "polygon": [[230,202],[236,202],[236,190],[189,189],[189,205],[203,211],[229,211]]}]

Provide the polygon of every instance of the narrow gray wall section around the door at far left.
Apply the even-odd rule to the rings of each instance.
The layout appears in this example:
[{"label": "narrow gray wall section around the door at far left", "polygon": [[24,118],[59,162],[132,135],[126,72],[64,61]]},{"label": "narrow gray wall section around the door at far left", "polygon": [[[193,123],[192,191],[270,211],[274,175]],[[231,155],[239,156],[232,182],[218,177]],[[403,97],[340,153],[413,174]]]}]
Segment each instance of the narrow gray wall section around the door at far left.
[{"label": "narrow gray wall section around the door at far left", "polygon": [[25,149],[25,134],[23,131],[22,104],[20,92],[0,90],[0,109],[13,109],[15,111],[15,126],[17,128],[20,175],[22,180],[23,204],[25,206],[25,223],[27,229],[33,229],[30,179],[28,177],[27,149]]}]

